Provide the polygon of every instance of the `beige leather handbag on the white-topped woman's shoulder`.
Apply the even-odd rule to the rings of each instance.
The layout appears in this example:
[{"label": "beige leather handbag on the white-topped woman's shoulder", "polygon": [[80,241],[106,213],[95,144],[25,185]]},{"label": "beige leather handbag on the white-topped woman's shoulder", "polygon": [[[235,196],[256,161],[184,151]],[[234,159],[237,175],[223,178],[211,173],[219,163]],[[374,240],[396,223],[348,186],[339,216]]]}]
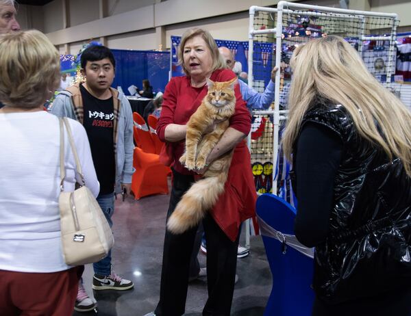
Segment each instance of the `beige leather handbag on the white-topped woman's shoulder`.
[{"label": "beige leather handbag on the white-topped woman's shoulder", "polygon": [[[77,174],[82,179],[80,187],[74,192],[64,192],[64,125],[75,158]],[[67,265],[85,265],[100,261],[114,245],[114,237],[99,203],[84,183],[82,166],[67,118],[60,118],[60,179],[58,204],[64,261]]]}]

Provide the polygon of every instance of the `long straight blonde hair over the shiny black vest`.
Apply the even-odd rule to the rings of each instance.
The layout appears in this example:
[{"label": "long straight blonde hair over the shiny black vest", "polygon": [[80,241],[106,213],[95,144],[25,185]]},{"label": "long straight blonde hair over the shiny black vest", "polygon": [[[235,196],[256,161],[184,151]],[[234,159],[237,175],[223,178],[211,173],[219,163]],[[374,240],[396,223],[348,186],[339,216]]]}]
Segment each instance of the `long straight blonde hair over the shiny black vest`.
[{"label": "long straight blonde hair over the shiny black vest", "polygon": [[411,113],[369,73],[348,42],[338,36],[310,40],[295,49],[290,66],[290,112],[282,141],[288,159],[303,116],[320,96],[343,105],[360,135],[390,159],[399,157],[411,176]]}]

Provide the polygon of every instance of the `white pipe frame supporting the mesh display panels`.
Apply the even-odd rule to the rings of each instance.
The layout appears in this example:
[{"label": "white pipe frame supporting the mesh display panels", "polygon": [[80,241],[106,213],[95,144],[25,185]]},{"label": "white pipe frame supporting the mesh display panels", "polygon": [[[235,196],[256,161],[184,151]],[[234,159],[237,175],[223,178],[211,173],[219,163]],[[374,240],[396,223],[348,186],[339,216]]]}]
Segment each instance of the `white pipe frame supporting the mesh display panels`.
[{"label": "white pipe frame supporting the mesh display panels", "polygon": [[[286,7],[287,9],[284,9]],[[333,16],[336,16],[338,18],[358,18],[362,23],[361,23],[361,29],[360,29],[360,43],[358,47],[358,52],[362,54],[362,41],[363,40],[390,40],[390,50],[389,50],[389,55],[388,55],[388,72],[386,75],[386,83],[390,84],[391,82],[391,76],[393,75],[393,61],[395,58],[395,51],[393,49],[395,40],[397,39],[397,21],[398,21],[398,14],[395,13],[382,13],[382,12],[369,12],[369,11],[359,11],[359,10],[345,10],[345,9],[339,9],[339,8],[329,8],[329,7],[322,7],[319,5],[307,5],[307,4],[301,4],[301,3],[292,3],[292,2],[287,2],[287,1],[279,1],[277,4],[277,8],[264,8],[264,7],[258,7],[256,5],[253,5],[249,9],[249,51],[248,51],[248,74],[249,74],[249,80],[248,80],[248,85],[250,88],[253,88],[253,37],[255,35],[261,35],[261,34],[275,34],[275,44],[276,47],[281,47],[281,42],[282,42],[282,15],[283,13],[287,14],[292,14],[295,12],[295,10],[290,10],[289,8],[295,8],[295,9],[307,9],[307,10],[313,10],[317,12],[304,12],[305,15],[310,15],[310,16],[329,16],[325,13],[322,12],[328,12],[332,13]],[[322,12],[318,12],[322,11]],[[254,14],[256,12],[271,12],[271,13],[276,13],[277,14],[277,27],[275,29],[254,29]],[[301,14],[301,12],[300,12]],[[392,25],[392,31],[390,36],[364,36],[365,33],[365,19],[367,17],[384,17],[384,18],[391,18],[393,21]],[[277,66],[279,69],[279,65],[281,64],[281,49],[276,49],[275,50],[275,66]],[[275,168],[277,167],[277,153],[278,153],[278,141],[279,141],[279,122],[282,120],[286,120],[286,116],[284,114],[287,113],[287,111],[279,111],[279,83],[280,83],[280,71],[277,71],[275,74],[275,96],[274,96],[274,111],[269,110],[269,111],[253,111],[254,114],[262,114],[262,115],[267,115],[267,114],[273,114],[273,178],[275,175]],[[249,146],[249,150],[251,152],[251,133],[249,133],[247,137],[247,144]],[[273,194],[276,194],[277,192],[277,180],[273,179]],[[247,222],[246,225],[246,231],[245,231],[245,246],[249,248],[250,246],[250,226],[249,222]]]}]

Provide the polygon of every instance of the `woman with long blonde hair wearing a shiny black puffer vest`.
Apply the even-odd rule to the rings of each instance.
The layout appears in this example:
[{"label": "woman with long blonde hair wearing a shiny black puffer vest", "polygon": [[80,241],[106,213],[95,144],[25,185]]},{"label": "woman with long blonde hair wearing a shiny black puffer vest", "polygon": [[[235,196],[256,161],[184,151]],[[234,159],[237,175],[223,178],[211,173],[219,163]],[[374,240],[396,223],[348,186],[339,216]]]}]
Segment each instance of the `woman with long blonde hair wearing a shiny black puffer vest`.
[{"label": "woman with long blonde hair wearing a shiny black puffer vest", "polygon": [[284,150],[313,315],[411,315],[411,114],[343,38],[298,47]]}]

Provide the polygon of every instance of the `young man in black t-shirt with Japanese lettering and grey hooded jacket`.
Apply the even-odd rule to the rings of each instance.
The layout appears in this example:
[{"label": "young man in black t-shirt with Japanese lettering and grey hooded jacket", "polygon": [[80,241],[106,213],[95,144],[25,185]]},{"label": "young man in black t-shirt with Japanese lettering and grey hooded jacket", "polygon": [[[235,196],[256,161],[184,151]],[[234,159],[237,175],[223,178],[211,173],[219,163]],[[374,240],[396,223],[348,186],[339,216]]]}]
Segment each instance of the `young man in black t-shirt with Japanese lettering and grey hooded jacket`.
[{"label": "young man in black t-shirt with Japanese lettering and grey hooded jacket", "polygon": [[[114,193],[130,193],[133,164],[132,109],[124,94],[110,88],[114,79],[115,60],[107,47],[88,47],[81,56],[82,75],[86,82],[77,83],[53,101],[51,112],[79,120],[86,129],[95,164],[100,193],[97,202],[110,226],[114,213]],[[131,289],[130,280],[112,271],[111,252],[94,263],[95,290]],[[91,311],[96,306],[90,300],[81,282],[75,304],[76,311]]]}]

